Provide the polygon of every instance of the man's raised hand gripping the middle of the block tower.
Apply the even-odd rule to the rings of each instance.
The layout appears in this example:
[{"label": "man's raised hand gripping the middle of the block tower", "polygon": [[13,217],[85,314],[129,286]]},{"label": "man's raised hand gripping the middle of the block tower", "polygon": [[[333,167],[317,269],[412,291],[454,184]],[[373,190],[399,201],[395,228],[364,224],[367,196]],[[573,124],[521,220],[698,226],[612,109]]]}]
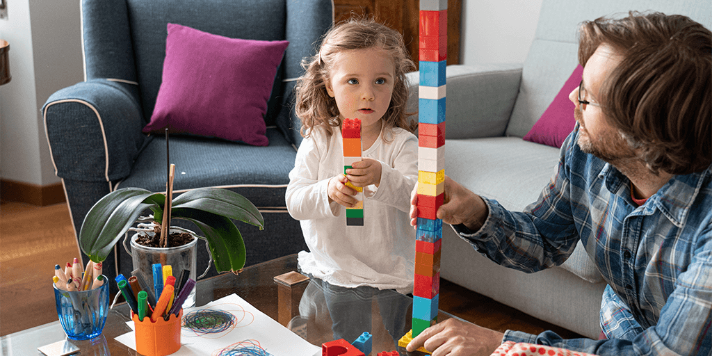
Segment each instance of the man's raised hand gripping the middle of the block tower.
[{"label": "man's raised hand gripping the middle of the block tower", "polygon": [[[417,225],[418,187],[413,189],[410,199],[410,224]],[[436,212],[438,219],[446,224],[464,224],[472,231],[479,230],[484,224],[489,211],[487,205],[477,194],[470,192],[459,183],[445,176],[444,202]]]}]

